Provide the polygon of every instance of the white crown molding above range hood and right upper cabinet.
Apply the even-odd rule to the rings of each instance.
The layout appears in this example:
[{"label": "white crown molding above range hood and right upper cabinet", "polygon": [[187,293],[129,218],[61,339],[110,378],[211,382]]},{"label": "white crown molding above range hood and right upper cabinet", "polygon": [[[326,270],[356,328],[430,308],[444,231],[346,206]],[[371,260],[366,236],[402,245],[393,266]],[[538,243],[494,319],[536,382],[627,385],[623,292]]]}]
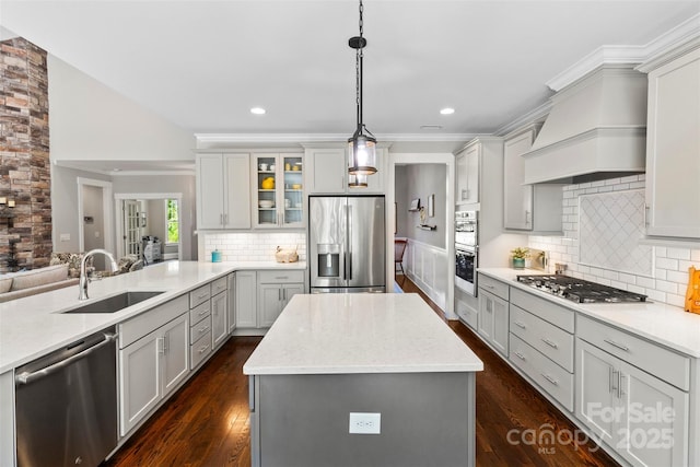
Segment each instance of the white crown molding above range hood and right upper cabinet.
[{"label": "white crown molding above range hood and right upper cabinet", "polygon": [[[684,46],[692,47],[693,42],[700,38],[700,13],[691,16],[678,26],[667,31],[649,44],[643,46],[602,46],[593,50],[581,60],[557,74],[547,82],[547,86],[555,92],[562,90],[569,84],[578,81],[591,71],[604,65],[629,65],[637,66],[637,70],[646,72],[646,62],[656,58],[663,63],[664,56],[674,49],[686,51]],[[697,45],[696,45],[697,46]],[[682,52],[681,51],[681,52]],[[679,55],[679,52],[678,52]],[[658,63],[656,65],[658,66]],[[653,66],[651,67],[653,69]]]}]

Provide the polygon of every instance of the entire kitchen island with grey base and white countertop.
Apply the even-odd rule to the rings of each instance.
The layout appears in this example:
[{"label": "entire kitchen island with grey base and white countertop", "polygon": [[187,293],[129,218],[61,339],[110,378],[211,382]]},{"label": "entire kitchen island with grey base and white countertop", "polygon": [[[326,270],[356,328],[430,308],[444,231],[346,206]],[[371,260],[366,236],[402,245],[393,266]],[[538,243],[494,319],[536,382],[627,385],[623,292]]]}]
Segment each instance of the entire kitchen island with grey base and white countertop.
[{"label": "entire kitchen island with grey base and white countertop", "polygon": [[416,294],[295,295],[243,367],[253,464],[471,466],[482,370]]}]

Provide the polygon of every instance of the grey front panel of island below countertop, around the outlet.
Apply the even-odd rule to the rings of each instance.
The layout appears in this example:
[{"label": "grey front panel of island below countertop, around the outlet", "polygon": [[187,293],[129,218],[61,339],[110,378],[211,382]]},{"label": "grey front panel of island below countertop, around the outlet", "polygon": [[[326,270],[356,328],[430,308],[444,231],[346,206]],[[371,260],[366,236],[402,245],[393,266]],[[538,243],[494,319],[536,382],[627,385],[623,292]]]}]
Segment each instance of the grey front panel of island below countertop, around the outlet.
[{"label": "grey front panel of island below countertop, around the outlet", "polygon": [[[475,373],[261,375],[250,387],[254,466],[475,465]],[[380,413],[380,433],[349,433],[350,412]]]}]

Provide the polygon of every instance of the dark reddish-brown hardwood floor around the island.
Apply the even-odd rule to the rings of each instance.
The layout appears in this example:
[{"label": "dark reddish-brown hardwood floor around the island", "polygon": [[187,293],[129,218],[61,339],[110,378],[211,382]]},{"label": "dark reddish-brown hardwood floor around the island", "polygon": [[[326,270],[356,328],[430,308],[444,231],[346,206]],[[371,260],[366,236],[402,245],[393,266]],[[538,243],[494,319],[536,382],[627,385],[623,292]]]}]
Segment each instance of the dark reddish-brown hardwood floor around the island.
[{"label": "dark reddish-brown hardwood floor around the island", "polygon": [[[444,319],[410,280],[400,276],[397,280],[405,292],[419,293]],[[478,466],[617,465],[592,442],[576,444],[583,433],[555,406],[466,326],[447,323],[483,361],[485,371],[477,374]],[[259,340],[230,339],[103,466],[249,466],[248,385],[243,364]],[[547,443],[548,435],[556,442]],[[538,444],[540,439],[544,443]]]}]

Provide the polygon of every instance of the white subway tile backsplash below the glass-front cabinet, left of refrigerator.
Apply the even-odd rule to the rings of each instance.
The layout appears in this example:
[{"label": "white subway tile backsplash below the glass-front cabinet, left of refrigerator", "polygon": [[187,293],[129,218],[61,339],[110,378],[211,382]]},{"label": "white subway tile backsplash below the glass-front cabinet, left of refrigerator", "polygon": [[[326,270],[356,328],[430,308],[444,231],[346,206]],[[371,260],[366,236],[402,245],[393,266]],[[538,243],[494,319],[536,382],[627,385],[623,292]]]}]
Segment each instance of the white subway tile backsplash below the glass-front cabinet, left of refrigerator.
[{"label": "white subway tile backsplash below the glass-front cabinet, left of refrigerator", "polygon": [[245,232],[206,233],[205,260],[211,260],[211,252],[221,252],[223,261],[273,261],[278,246],[294,248],[300,261],[306,260],[306,234],[304,232]]}]

